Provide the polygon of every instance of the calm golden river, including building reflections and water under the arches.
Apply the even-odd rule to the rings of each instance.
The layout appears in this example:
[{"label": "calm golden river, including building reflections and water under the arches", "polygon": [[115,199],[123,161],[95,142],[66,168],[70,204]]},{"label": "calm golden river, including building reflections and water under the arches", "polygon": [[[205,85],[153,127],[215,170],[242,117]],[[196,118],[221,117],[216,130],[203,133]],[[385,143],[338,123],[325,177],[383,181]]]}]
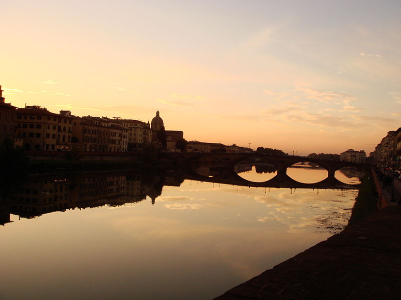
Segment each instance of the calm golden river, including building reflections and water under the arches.
[{"label": "calm golden river, including building reflections and water under the arches", "polygon": [[0,299],[212,299],[339,232],[357,195],[180,181],[53,174],[3,195]]}]

